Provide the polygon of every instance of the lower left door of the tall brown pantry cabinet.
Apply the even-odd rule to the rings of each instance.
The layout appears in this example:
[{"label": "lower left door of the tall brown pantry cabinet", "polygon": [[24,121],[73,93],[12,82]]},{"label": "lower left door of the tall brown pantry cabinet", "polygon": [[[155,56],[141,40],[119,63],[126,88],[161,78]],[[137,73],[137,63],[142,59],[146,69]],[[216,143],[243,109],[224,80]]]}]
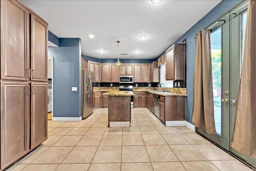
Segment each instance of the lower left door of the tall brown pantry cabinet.
[{"label": "lower left door of the tall brown pantry cabinet", "polygon": [[1,82],[1,169],[29,149],[29,96],[27,83]]}]

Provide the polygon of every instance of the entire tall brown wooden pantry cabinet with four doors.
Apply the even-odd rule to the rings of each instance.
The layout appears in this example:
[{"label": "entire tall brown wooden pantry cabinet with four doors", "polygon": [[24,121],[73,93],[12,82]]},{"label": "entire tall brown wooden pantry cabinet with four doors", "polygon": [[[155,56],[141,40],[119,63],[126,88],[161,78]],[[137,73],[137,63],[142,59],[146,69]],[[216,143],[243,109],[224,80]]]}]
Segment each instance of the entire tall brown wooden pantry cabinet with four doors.
[{"label": "entire tall brown wooden pantry cabinet with four doors", "polygon": [[0,169],[47,139],[48,23],[18,0],[0,1]]}]

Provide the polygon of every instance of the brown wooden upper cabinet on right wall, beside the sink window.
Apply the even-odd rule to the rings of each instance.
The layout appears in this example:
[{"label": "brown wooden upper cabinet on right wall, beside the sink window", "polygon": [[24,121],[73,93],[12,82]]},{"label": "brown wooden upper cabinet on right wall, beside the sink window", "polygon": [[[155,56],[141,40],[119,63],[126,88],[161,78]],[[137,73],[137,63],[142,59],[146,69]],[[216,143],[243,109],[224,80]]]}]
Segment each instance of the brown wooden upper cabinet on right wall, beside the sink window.
[{"label": "brown wooden upper cabinet on right wall, beside the sink window", "polygon": [[166,80],[185,79],[185,44],[174,44],[166,50]]}]

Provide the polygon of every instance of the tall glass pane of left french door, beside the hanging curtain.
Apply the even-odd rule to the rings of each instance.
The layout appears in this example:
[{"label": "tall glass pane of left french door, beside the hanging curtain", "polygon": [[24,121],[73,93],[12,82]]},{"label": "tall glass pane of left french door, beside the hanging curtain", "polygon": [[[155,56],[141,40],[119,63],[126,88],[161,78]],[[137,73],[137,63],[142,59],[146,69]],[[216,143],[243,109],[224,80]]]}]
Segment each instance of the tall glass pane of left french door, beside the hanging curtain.
[{"label": "tall glass pane of left french door, beside the hanging curtain", "polygon": [[221,135],[221,27],[211,32],[212,84],[214,119],[218,135]]}]

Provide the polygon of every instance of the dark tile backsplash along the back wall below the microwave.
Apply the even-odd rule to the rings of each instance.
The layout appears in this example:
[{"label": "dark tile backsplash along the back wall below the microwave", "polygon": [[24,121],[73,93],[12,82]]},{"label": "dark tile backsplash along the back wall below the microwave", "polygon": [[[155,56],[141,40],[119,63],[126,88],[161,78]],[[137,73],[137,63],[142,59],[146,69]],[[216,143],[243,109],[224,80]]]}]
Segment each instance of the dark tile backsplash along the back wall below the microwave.
[{"label": "dark tile backsplash along the back wall below the microwave", "polygon": [[159,83],[93,83],[94,87],[111,87],[110,84],[112,84],[112,87],[119,87],[119,85],[133,85],[133,87],[136,87],[136,84],[138,87],[158,87]]}]

